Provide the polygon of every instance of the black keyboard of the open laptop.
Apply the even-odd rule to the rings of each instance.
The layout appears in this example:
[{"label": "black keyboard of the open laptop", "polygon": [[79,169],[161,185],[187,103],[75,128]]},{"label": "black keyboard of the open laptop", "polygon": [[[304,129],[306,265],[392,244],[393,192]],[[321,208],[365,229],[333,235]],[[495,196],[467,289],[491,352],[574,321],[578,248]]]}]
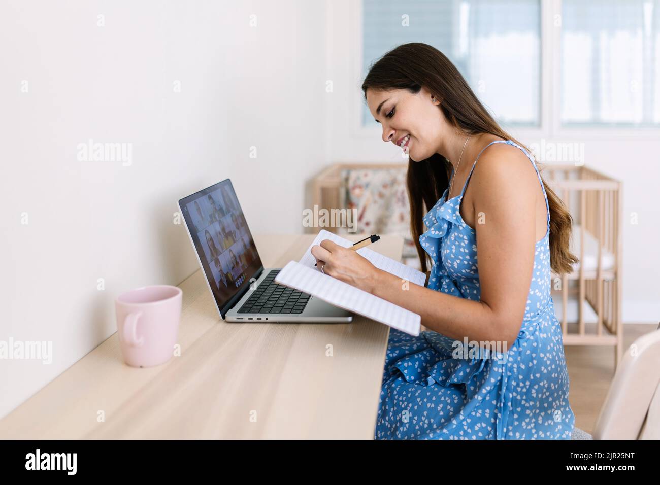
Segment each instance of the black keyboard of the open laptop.
[{"label": "black keyboard of the open laptop", "polygon": [[310,295],[277,284],[275,276],[279,272],[279,269],[274,269],[268,273],[238,313],[302,313],[310,301]]}]

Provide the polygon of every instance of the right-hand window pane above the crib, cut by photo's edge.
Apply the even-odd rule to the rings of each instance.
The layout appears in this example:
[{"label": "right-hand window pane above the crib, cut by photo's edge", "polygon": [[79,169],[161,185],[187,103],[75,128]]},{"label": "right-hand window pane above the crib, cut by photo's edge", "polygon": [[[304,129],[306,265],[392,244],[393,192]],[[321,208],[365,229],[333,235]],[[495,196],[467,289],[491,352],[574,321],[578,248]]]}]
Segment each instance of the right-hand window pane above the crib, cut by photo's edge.
[{"label": "right-hand window pane above the crib, cut by photo's edge", "polygon": [[562,1],[562,125],[660,123],[660,1]]}]

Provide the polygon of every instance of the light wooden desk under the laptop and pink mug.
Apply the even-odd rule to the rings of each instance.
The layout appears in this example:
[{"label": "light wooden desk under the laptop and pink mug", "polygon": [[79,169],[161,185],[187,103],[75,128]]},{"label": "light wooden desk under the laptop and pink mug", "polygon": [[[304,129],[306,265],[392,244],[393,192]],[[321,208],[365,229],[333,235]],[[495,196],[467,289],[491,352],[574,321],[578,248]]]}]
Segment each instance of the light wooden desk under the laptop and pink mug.
[{"label": "light wooden desk under the laptop and pink mug", "polygon": [[[313,240],[255,237],[265,267],[300,259]],[[372,249],[398,260],[403,240]],[[131,368],[115,333],[0,420],[0,438],[372,439],[389,327],[359,316],[225,323],[201,271],[180,287],[181,356]]]}]

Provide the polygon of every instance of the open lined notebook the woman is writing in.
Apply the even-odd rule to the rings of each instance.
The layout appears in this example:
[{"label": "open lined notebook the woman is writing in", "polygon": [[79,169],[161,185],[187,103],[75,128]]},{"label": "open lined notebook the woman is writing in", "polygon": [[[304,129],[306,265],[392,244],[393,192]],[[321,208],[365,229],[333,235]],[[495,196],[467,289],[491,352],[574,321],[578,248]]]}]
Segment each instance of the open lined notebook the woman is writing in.
[{"label": "open lined notebook the woman is writing in", "polygon": [[[287,263],[275,276],[275,282],[308,293],[331,305],[379,321],[409,335],[419,335],[421,318],[417,313],[360,290],[337,278],[325,275],[314,266],[316,259],[312,255],[312,246],[325,239],[329,239],[342,247],[353,245],[352,242],[337,236],[337,234],[321,230],[302,259],[297,263],[296,261]],[[424,286],[426,275],[414,268],[383,256],[368,247],[358,249],[357,253],[368,259],[378,269],[398,276],[402,280],[409,280],[414,284]]]}]

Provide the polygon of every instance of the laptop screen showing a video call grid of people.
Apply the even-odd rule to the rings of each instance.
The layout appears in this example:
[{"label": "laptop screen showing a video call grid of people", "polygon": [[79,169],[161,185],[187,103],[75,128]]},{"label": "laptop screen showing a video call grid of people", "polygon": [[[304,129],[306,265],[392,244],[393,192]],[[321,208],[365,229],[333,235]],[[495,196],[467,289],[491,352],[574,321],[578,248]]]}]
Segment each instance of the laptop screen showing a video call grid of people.
[{"label": "laptop screen showing a video call grid of people", "polygon": [[232,307],[263,264],[230,179],[179,201],[183,219],[220,315]]}]

